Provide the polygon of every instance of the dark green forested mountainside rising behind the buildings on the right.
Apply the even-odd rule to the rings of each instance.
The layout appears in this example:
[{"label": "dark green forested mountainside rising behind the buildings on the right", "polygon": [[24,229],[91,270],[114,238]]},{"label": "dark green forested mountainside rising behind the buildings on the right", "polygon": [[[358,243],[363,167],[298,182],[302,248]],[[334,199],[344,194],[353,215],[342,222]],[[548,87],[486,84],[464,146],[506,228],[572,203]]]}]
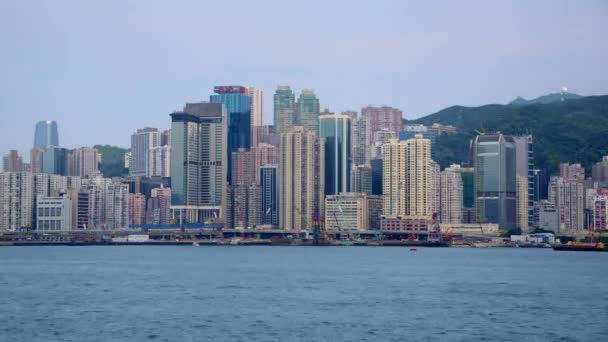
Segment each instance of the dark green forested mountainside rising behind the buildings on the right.
[{"label": "dark green forested mountainside rising behind the buildings on the right", "polygon": [[[408,123],[410,123],[409,121]],[[469,160],[469,143],[481,132],[532,134],[536,167],[557,173],[560,162],[591,165],[608,155],[608,96],[587,96],[550,104],[453,106],[413,123],[453,125],[457,134],[436,140],[442,166]]]}]

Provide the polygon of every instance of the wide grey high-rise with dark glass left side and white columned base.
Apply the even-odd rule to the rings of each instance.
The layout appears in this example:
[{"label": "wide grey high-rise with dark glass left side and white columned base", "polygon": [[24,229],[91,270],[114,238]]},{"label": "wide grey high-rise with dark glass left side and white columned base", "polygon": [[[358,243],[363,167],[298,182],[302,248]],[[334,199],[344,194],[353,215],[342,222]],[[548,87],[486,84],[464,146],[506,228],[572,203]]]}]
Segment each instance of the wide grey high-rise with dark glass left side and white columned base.
[{"label": "wide grey high-rise with dark glass left side and white columned base", "polygon": [[226,182],[226,109],[187,104],[171,114],[171,205],[177,223],[219,218]]}]

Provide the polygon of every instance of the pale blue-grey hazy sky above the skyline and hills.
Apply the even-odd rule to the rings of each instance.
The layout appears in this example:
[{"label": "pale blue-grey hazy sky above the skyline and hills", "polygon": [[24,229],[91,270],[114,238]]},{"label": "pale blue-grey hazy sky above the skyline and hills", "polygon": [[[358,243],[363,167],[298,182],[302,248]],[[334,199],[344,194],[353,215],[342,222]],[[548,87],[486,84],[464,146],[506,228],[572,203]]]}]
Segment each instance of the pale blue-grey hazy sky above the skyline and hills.
[{"label": "pale blue-grey hazy sky above the skyline and hills", "polygon": [[0,154],[34,125],[64,147],[128,147],[214,85],[313,89],[321,108],[507,103],[608,94],[608,1],[0,2]]}]

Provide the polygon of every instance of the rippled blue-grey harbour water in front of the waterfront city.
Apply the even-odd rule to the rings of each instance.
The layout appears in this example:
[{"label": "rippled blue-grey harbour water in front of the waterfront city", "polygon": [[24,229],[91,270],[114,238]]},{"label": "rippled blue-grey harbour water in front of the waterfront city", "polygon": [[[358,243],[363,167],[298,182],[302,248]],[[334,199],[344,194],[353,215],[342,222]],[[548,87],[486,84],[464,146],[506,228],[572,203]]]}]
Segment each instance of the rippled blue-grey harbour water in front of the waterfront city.
[{"label": "rippled blue-grey harbour water in front of the waterfront city", "polygon": [[3,341],[608,341],[608,253],[0,248]]}]

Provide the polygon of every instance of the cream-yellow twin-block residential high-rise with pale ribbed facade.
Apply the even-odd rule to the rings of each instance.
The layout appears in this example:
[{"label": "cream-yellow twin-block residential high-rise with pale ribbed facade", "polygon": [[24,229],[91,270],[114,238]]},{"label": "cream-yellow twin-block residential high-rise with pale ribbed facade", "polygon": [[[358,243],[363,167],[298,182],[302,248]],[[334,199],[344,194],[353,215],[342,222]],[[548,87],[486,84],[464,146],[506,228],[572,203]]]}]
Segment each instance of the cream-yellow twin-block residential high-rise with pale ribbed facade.
[{"label": "cream-yellow twin-block residential high-rise with pale ribbed facade", "polygon": [[384,215],[410,220],[432,219],[431,142],[392,139],[383,146]]}]

